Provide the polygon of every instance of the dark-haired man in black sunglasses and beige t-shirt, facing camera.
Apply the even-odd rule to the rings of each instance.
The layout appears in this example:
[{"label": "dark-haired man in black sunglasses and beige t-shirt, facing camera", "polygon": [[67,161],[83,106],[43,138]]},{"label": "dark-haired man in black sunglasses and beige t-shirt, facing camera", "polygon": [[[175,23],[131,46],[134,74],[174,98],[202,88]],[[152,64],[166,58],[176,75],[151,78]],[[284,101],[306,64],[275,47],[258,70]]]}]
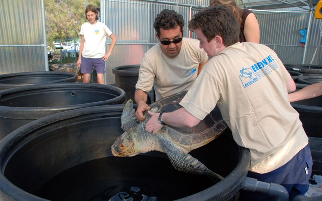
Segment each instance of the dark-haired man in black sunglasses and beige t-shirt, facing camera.
[{"label": "dark-haired man in black sunglasses and beige t-shirt, facing camera", "polygon": [[148,93],[155,89],[156,100],[190,89],[202,67],[208,62],[207,53],[199,48],[199,41],[183,37],[183,16],[165,9],[157,15],[153,25],[160,43],[149,49],[141,62],[136,84],[136,116],[140,121]]}]

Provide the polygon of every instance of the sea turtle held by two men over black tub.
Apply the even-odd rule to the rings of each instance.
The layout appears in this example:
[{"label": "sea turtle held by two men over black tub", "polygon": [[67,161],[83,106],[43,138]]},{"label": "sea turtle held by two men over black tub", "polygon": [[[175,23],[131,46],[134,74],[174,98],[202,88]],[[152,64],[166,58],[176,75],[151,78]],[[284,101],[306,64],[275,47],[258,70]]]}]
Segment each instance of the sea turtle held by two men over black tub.
[{"label": "sea turtle held by two men over black tub", "polygon": [[[153,112],[171,112],[182,106],[179,102],[187,91],[165,97],[150,105]],[[218,137],[226,128],[221,113],[215,109],[198,125],[192,128],[176,128],[164,125],[156,135],[145,130],[145,124],[150,119],[148,112],[144,113],[146,120],[139,122],[135,116],[133,101],[127,101],[121,116],[122,129],[125,131],[112,145],[114,156],[135,156],[149,151],[165,152],[175,169],[186,173],[208,175],[211,178],[223,179],[212,172],[196,158],[188,154]]]}]

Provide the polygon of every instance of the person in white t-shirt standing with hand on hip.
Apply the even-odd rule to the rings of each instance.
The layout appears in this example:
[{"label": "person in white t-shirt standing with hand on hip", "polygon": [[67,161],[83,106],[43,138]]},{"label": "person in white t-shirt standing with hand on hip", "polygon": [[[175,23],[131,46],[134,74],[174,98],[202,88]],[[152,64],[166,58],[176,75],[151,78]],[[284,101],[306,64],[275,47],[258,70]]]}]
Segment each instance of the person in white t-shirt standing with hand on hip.
[{"label": "person in white t-shirt standing with hand on hip", "polygon": [[[90,74],[95,67],[97,82],[104,84],[105,61],[113,51],[116,37],[105,24],[98,21],[98,12],[93,5],[88,5],[85,13],[88,22],[80,27],[81,41],[77,66],[81,68],[81,72],[84,74],[84,83],[89,83]],[[105,54],[106,36],[112,39],[112,44]]]}]

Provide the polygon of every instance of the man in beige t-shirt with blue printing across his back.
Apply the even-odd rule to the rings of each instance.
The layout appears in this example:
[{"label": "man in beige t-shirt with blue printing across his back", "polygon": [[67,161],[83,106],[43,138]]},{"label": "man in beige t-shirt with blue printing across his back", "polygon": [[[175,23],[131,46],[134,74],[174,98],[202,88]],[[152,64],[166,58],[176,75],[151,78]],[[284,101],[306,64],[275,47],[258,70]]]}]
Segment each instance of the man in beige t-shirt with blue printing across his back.
[{"label": "man in beige t-shirt with blue printing across his back", "polygon": [[[159,113],[149,111],[152,117],[146,130],[156,134],[162,121],[193,127],[218,105],[235,142],[250,150],[248,177],[283,185],[290,200],[304,194],[312,158],[299,114],[288,100],[295,83],[281,60],[265,45],[239,43],[238,22],[224,5],[200,11],[188,27],[211,59],[180,102],[183,108],[163,113],[161,121]],[[272,198],[241,191],[240,200]]]}]

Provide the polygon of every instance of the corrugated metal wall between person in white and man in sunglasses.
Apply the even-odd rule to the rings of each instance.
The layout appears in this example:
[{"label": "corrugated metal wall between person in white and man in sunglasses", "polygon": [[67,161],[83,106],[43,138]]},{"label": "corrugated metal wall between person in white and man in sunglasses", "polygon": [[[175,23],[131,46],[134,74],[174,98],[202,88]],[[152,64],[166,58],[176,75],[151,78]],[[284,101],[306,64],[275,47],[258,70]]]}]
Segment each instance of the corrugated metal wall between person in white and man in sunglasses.
[{"label": "corrugated metal wall between person in white and man in sunglasses", "polygon": [[[107,83],[115,82],[112,68],[140,64],[144,53],[158,42],[153,22],[156,15],[163,9],[175,10],[182,14],[184,19],[190,18],[190,7],[183,5],[133,0],[101,2],[102,22],[111,29],[117,38],[113,53],[106,62]],[[106,14],[105,17],[103,17],[103,10]],[[186,24],[184,37],[189,37]],[[111,39],[108,39],[107,43],[110,44]]]}]

